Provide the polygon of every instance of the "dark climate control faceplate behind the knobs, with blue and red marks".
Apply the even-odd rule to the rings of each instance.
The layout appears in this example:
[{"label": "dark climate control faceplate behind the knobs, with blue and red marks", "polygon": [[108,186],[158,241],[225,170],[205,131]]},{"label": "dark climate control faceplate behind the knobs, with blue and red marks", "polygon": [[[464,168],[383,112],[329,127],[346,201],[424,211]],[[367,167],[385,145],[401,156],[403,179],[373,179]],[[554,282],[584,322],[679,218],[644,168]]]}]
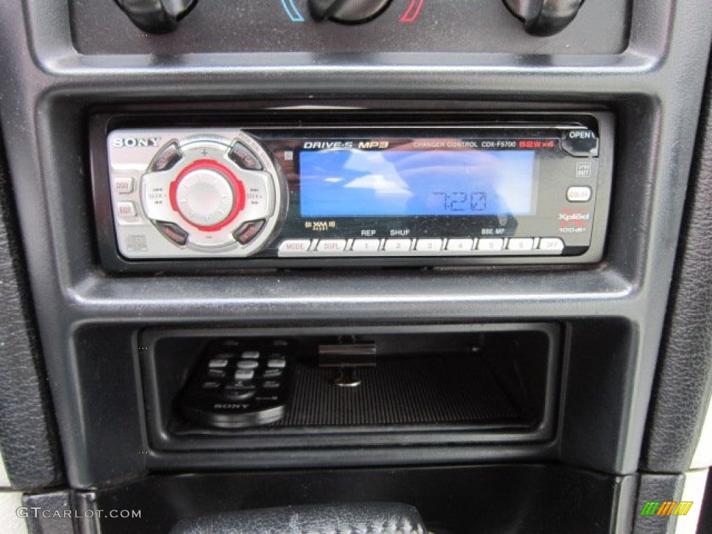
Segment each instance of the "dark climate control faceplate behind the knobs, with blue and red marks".
[{"label": "dark climate control faceplate behind the knobs, with blue and red marks", "polygon": [[[518,54],[618,53],[629,2],[587,2],[561,33],[530,36],[501,0],[393,0],[366,24],[315,22],[307,0],[202,0],[176,31],[150,35],[109,0],[70,0],[74,46],[83,54],[201,52]],[[417,6],[420,6],[417,10]],[[97,23],[101,21],[101,23]]]}]

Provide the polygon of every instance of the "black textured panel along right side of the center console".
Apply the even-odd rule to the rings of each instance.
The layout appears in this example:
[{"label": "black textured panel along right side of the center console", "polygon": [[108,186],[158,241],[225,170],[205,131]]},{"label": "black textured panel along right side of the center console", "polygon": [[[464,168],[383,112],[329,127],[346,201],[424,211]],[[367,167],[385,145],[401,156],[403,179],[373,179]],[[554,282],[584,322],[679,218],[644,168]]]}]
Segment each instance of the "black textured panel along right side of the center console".
[{"label": "black textured panel along right side of the center console", "polygon": [[686,471],[712,388],[712,76],[708,73],[642,468]]}]

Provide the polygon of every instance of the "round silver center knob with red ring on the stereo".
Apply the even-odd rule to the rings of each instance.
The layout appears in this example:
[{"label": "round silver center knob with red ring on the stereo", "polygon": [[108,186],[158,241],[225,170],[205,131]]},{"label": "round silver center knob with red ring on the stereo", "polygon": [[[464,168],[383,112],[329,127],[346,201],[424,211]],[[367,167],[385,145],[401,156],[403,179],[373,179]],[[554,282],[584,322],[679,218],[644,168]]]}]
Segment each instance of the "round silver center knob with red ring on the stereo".
[{"label": "round silver center knob with red ring on the stereo", "polygon": [[202,231],[228,225],[245,206],[245,188],[227,167],[212,159],[189,165],[171,184],[175,211]]}]

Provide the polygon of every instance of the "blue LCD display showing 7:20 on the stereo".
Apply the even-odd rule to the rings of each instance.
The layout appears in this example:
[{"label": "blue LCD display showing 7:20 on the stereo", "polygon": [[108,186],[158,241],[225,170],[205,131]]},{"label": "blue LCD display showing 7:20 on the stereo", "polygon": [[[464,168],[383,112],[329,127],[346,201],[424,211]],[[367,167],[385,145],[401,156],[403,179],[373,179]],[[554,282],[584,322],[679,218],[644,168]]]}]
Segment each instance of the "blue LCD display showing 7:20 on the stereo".
[{"label": "blue LCD display showing 7:20 on the stereo", "polygon": [[530,215],[533,150],[305,150],[303,217]]}]

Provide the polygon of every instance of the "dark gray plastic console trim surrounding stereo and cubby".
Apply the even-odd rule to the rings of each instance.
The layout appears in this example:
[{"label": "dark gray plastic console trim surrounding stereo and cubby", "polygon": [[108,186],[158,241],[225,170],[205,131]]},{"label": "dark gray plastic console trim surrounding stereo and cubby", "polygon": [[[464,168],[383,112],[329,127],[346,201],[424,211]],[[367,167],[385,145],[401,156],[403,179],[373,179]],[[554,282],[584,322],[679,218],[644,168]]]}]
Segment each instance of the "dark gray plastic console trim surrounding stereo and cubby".
[{"label": "dark gray plastic console trim surrounding stereo and cubby", "polygon": [[[85,56],[73,48],[68,13],[66,1],[0,4],[0,115],[13,132],[6,138],[9,167],[72,486],[148,467],[148,455],[140,454],[145,430],[132,390],[132,351],[137,331],[155,325],[565,323],[577,387],[563,384],[572,410],[562,414],[560,447],[549,454],[617,475],[637,470],[696,134],[699,67],[712,34],[708,0],[636,1],[628,48],[598,55]],[[410,110],[561,112],[602,105],[616,115],[618,155],[604,261],[586,269],[103,272],[90,224],[89,108],[159,102],[204,110],[239,101],[257,110],[265,100],[386,102]],[[607,338],[610,326],[621,340]],[[82,345],[83,328],[113,329],[104,354],[98,344]],[[100,372],[105,363],[108,379],[93,382],[90,370]],[[584,387],[585,379],[597,387]],[[112,387],[123,393],[110,395]],[[106,443],[119,432],[97,407],[108,401],[125,431],[100,453],[96,440]],[[107,466],[111,454],[115,461]],[[448,449],[442,454],[443,461],[457,461]],[[400,456],[392,451],[383,461]],[[179,454],[174,461],[179,468]]]}]

